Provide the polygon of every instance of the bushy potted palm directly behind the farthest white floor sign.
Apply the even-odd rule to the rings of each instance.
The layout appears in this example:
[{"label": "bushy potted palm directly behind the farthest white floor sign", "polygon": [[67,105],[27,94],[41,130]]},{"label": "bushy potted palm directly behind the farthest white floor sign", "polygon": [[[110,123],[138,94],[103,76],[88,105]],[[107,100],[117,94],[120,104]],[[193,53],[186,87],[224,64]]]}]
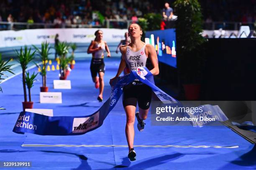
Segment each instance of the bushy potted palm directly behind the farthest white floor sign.
[{"label": "bushy potted palm directly behind the farthest white floor sign", "polygon": [[67,67],[69,63],[69,58],[66,57],[67,53],[69,52],[69,45],[67,45],[66,42],[59,42],[58,45],[55,46],[57,54],[59,55],[59,61],[60,61],[60,80],[66,80],[67,79]]}]

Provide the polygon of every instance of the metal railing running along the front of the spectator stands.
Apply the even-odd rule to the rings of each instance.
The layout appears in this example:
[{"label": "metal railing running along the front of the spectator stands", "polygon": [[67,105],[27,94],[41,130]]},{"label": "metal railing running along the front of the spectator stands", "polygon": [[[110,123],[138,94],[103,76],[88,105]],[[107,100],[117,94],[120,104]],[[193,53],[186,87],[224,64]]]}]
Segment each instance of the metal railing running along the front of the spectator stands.
[{"label": "metal railing running along the front of the spectator stands", "polygon": [[[9,23],[9,22],[0,22],[0,30],[23,30],[23,29],[38,29],[38,28],[123,28],[126,29],[131,23],[134,23],[133,20],[104,20],[102,25],[88,25],[88,24],[70,24],[67,25],[62,23],[61,25],[56,25],[52,23]],[[223,30],[239,30],[241,25],[249,25],[251,30],[255,29],[254,23],[247,22],[212,22],[204,23],[204,30],[218,30],[222,28]]]}]

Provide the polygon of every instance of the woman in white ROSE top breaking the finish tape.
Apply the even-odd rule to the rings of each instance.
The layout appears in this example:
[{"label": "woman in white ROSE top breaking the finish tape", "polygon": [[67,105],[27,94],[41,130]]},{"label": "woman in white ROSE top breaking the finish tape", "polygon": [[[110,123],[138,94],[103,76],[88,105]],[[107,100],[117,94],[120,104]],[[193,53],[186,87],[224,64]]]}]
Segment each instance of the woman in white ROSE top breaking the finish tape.
[{"label": "woman in white ROSE top breaking the finish tape", "polygon": [[[122,60],[116,76],[110,79],[110,85],[124,70],[125,64],[128,65],[130,72],[135,70],[142,77],[148,73],[143,69],[145,66],[153,75],[159,74],[156,50],[153,45],[145,44],[141,41],[141,26],[131,24],[128,28],[128,35],[131,37],[131,43],[120,46]],[[129,147],[128,158],[130,160],[136,160],[136,153],[133,149],[135,117],[138,121],[137,128],[142,131],[145,126],[143,120],[147,118],[151,104],[151,94],[151,87],[143,84],[138,79],[123,87],[123,107],[126,113],[125,135]],[[137,102],[139,112],[135,113]]]}]

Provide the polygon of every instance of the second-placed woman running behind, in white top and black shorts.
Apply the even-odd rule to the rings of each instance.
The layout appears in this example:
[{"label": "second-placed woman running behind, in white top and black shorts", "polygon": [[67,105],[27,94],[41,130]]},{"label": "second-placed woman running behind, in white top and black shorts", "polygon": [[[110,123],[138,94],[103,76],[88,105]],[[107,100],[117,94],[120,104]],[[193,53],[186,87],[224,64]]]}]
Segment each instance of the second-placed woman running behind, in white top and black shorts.
[{"label": "second-placed woman running behind, in white top and black shorts", "polygon": [[[108,52],[107,57],[110,57],[110,50],[108,48],[107,42],[103,41],[103,32],[97,30],[95,32],[95,40],[93,40],[88,47],[87,53],[92,53],[92,61],[90,65],[92,81],[95,83],[95,88],[100,87],[100,94],[97,100],[102,102],[103,100],[103,89],[104,89],[104,73],[105,73],[105,63],[104,63],[104,50]],[[97,73],[99,77],[97,77]]]}]

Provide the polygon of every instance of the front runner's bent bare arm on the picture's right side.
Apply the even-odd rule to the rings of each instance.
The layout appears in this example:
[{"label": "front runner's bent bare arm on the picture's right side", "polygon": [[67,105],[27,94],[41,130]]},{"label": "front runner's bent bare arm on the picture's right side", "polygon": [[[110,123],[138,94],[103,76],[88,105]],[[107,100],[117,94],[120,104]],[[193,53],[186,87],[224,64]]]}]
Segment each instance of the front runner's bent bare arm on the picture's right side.
[{"label": "front runner's bent bare arm on the picture's right side", "polygon": [[151,63],[154,67],[152,70],[150,70],[150,72],[153,75],[158,75],[159,74],[159,67],[158,67],[158,59],[157,59],[157,55],[156,55],[156,50],[155,50],[154,46],[150,45],[150,44],[146,45],[146,50],[148,52],[148,57],[150,58]]}]

